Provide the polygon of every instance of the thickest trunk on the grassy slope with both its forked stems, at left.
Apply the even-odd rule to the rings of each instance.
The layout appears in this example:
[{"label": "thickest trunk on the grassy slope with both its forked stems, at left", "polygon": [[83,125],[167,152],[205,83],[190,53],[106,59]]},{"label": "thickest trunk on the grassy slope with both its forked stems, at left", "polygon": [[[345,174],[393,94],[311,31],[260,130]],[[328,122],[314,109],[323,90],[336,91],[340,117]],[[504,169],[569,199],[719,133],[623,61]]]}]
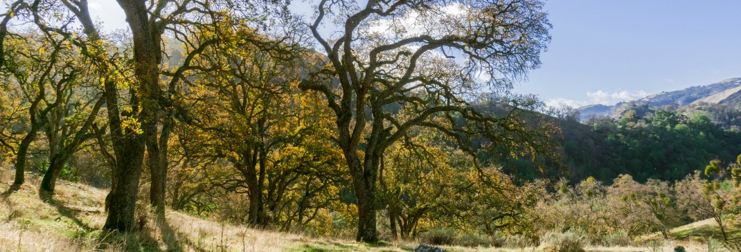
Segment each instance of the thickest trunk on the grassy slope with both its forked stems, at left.
[{"label": "thickest trunk on the grassy slope with both its forked stems, at left", "polygon": [[[101,75],[104,80],[104,98],[107,104],[108,126],[113,143],[115,166],[111,172],[111,189],[105,198],[105,209],[108,216],[103,225],[104,230],[131,231],[134,228],[134,211],[136,208],[136,194],[139,191],[139,179],[142,175],[144,162],[145,140],[153,134],[153,112],[157,109],[159,96],[157,59],[162,53],[159,50],[159,40],[151,32],[148,22],[147,6],[143,0],[117,0],[124,10],[126,21],[129,23],[133,35],[134,64],[136,79],[139,83],[136,89],[130,90],[130,117],[138,118],[142,122],[143,135],[133,129],[122,129],[122,120],[119,110],[118,87],[110,78],[105,78],[112,69],[108,67],[107,55],[93,55],[99,61]],[[91,41],[99,41],[100,36],[93,25],[87,3],[63,1],[64,5],[79,18],[84,27],[84,33]],[[141,104],[140,104],[141,102]],[[139,110],[141,109],[141,112]]]}]

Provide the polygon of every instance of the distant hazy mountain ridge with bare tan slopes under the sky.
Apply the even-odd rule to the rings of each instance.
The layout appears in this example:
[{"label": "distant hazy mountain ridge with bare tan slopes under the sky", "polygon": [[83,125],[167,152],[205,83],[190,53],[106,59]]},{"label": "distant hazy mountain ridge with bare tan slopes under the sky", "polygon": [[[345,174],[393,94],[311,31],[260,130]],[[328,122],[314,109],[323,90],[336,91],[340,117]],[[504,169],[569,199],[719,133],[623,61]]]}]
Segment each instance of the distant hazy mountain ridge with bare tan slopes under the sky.
[{"label": "distant hazy mountain ridge with bare tan slopes under the sky", "polygon": [[671,92],[648,95],[636,101],[620,102],[614,106],[602,104],[582,106],[580,120],[592,116],[621,118],[628,110],[642,116],[656,108],[678,109],[700,104],[741,104],[741,78],[730,78],[706,86],[691,86]]}]

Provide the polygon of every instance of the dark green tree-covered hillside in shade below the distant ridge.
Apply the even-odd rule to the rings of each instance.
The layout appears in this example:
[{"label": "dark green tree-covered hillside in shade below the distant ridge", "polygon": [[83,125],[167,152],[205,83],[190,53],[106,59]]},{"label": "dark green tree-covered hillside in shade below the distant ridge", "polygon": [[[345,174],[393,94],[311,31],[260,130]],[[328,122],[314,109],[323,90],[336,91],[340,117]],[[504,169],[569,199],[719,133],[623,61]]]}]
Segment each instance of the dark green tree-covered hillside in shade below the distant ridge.
[{"label": "dark green tree-covered hillside in shade below the distant ridge", "polygon": [[592,118],[586,125],[561,121],[562,161],[573,180],[595,177],[611,181],[618,174],[635,180],[682,180],[708,160],[736,161],[741,132],[711,123],[707,115],[691,117],[657,110],[645,117]]}]

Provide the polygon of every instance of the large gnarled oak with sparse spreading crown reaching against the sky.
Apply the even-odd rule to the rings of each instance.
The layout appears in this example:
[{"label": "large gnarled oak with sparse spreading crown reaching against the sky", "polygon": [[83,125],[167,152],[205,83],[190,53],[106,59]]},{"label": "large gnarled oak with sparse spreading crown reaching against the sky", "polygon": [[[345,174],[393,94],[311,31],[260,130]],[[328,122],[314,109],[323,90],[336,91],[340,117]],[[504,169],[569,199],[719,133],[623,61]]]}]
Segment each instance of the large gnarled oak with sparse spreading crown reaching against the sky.
[{"label": "large gnarled oak with sparse spreading crown reaching against the sky", "polygon": [[[314,14],[306,25],[324,66],[300,87],[324,95],[336,118],[333,140],[358,202],[357,240],[378,239],[380,160],[410,129],[444,132],[461,147],[475,134],[494,144],[534,142],[524,121],[483,115],[467,99],[481,88],[502,95],[539,66],[550,39],[541,1],[321,0]],[[324,26],[335,29],[328,35]]]}]

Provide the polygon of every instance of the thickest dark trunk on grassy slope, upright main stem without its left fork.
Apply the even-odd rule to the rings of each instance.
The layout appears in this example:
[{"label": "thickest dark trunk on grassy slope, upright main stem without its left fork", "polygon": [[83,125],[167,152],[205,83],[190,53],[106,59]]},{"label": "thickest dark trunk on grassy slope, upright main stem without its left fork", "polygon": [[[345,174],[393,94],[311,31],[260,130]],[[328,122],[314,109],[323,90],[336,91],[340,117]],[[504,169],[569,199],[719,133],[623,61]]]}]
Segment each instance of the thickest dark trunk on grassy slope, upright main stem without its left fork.
[{"label": "thickest dark trunk on grassy slope, upright main stem without its left fork", "polygon": [[[144,146],[154,134],[156,136],[156,111],[159,109],[160,92],[158,58],[162,54],[159,48],[159,37],[153,33],[147,12],[147,5],[143,0],[117,0],[126,14],[133,38],[134,72],[139,84],[136,92],[132,92],[132,104],[138,106],[133,111],[141,109],[139,121],[142,122],[142,134],[127,130],[127,134],[113,136],[116,146],[116,168],[113,171],[116,186],[111,189],[108,198],[108,217],[103,225],[104,229],[119,231],[133,230],[134,210],[136,208],[136,194],[139,191],[139,179],[142,175],[144,162]],[[107,95],[116,92],[116,86],[109,90]],[[140,97],[137,95],[141,95]],[[108,104],[110,104],[110,99]],[[115,102],[115,101],[114,101]],[[141,102],[141,103],[139,103]],[[118,112],[118,111],[116,111]],[[118,115],[116,115],[118,117]],[[110,113],[109,113],[110,118]],[[121,127],[120,120],[109,120],[111,132]],[[121,138],[119,138],[121,137]],[[116,140],[119,138],[119,140]],[[124,144],[122,144],[124,143]]]}]

